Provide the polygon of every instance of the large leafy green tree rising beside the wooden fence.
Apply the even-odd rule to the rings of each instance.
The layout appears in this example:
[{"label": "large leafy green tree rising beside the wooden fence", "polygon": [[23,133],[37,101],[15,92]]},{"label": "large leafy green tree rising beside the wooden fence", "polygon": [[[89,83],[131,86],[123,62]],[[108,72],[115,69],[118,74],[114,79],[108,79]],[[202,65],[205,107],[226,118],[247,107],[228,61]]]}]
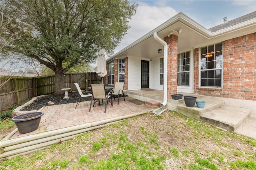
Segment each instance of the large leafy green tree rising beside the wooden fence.
[{"label": "large leafy green tree rising beside the wooden fence", "polygon": [[54,94],[60,95],[71,67],[94,62],[99,49],[114,52],[136,8],[127,0],[4,1],[1,53],[31,57],[52,69]]}]

